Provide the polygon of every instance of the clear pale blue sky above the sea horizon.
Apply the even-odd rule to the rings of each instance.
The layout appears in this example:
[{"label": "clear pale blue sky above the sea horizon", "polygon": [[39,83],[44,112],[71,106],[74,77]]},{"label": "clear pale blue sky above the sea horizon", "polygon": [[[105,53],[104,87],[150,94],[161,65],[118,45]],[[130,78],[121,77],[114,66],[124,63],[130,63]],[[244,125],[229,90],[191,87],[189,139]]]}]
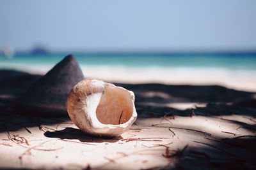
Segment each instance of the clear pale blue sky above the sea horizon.
[{"label": "clear pale blue sky above the sea horizon", "polygon": [[0,0],[0,49],[256,50],[256,1]]}]

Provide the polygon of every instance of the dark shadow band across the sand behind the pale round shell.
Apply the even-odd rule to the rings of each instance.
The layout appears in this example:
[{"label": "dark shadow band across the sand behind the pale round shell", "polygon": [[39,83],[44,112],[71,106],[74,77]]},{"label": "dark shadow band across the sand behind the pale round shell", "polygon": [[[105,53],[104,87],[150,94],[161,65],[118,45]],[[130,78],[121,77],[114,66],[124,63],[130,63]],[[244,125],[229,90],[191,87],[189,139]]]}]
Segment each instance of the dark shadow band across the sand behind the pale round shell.
[{"label": "dark shadow band across the sand behind the pale round shell", "polygon": [[[13,70],[0,70],[0,114],[1,122],[10,122],[15,128],[40,126],[42,124],[56,124],[69,120],[64,117],[50,118],[49,115],[26,115],[26,113],[13,113],[12,104],[19,96],[24,94],[41,76]],[[163,85],[163,84],[121,84],[125,89],[132,90],[136,96],[136,110],[139,118],[163,117],[164,115],[191,116],[192,109],[178,110],[163,104],[168,103],[205,103],[207,106],[193,109],[196,115],[248,115],[256,117],[256,99],[254,92],[243,92],[227,89],[218,85]],[[4,120],[4,115],[16,117]],[[17,125],[19,118],[26,117],[26,124]],[[24,122],[24,120],[22,120]],[[21,121],[21,122],[22,122]],[[239,123],[239,122],[237,122]],[[12,128],[12,129],[15,129]],[[0,132],[4,131],[3,128]]]}]

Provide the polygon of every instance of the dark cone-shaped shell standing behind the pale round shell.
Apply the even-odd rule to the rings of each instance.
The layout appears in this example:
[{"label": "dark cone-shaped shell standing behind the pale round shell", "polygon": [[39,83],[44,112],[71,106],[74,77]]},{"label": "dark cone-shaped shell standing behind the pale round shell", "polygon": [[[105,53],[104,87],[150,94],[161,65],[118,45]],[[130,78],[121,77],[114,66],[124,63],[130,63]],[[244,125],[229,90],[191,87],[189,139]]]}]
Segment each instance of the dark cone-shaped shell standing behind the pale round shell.
[{"label": "dark cone-shaped shell standing behind the pale round shell", "polygon": [[83,73],[73,55],[68,55],[36,81],[14,105],[18,113],[67,116],[67,97]]}]

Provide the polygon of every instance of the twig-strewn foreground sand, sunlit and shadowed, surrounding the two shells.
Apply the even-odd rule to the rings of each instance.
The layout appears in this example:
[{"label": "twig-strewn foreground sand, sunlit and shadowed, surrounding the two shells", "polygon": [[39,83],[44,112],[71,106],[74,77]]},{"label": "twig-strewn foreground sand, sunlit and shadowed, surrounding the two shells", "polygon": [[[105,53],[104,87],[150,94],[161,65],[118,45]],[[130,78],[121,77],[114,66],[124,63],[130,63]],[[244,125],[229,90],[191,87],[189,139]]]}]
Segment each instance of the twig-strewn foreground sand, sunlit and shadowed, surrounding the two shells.
[{"label": "twig-strewn foreground sand, sunlit and shadowed, surrounding the two shells", "polygon": [[[95,138],[68,117],[13,113],[40,78],[0,71],[0,167],[4,169],[245,169],[256,167],[256,94],[218,85],[120,85],[138,119],[119,138]],[[253,85],[250,85],[253,87]]]}]

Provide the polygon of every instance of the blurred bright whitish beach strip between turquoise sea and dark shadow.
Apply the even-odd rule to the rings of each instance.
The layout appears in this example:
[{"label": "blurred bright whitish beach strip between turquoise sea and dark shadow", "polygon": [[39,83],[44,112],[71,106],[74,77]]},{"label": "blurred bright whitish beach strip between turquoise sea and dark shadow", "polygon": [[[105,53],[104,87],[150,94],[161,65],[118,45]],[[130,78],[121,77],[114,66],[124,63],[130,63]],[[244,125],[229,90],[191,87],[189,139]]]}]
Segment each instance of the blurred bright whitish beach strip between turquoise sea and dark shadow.
[{"label": "blurred bright whitish beach strip between turquoise sea and dark shadow", "polygon": [[[12,68],[33,74],[45,74],[51,65],[35,63],[0,63],[1,68]],[[86,78],[99,78],[119,83],[163,83],[166,85],[221,85],[230,89],[256,92],[256,71],[230,70],[216,67],[124,67],[86,66],[81,69]]]}]

